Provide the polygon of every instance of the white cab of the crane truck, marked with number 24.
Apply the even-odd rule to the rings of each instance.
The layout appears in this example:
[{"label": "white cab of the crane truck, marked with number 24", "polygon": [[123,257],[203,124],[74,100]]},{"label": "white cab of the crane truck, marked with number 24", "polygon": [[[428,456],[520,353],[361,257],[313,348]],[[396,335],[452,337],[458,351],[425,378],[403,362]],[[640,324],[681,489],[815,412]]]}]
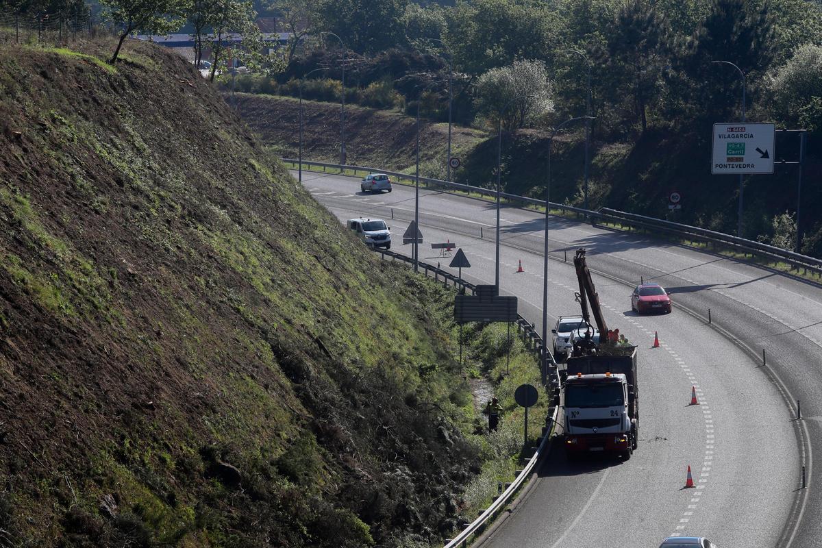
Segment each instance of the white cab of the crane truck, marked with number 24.
[{"label": "white cab of the crane truck, marked with number 24", "polygon": [[561,393],[566,452],[617,453],[630,458],[633,427],[626,375],[610,372],[570,376]]}]

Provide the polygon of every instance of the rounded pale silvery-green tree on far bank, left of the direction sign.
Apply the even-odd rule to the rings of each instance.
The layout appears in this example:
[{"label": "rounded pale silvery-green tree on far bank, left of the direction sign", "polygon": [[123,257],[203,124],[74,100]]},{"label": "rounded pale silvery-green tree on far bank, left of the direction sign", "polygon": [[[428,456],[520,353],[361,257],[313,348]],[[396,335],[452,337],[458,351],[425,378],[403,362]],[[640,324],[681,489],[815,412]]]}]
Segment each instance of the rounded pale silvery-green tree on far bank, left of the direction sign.
[{"label": "rounded pale silvery-green tree on far bank, left of the direction sign", "polygon": [[542,62],[516,61],[508,67],[492,68],[479,77],[478,113],[495,121],[501,117],[506,131],[523,127],[552,108],[551,83]]}]

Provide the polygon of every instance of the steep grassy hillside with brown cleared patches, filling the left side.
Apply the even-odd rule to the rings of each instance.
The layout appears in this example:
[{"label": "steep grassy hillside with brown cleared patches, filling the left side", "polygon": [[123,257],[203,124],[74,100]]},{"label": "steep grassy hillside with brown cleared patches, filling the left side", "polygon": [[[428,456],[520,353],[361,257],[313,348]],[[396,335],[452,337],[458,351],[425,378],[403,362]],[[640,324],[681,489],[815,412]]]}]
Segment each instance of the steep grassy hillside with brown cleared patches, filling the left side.
[{"label": "steep grassy hillside with brown cleared patches, filling the left side", "polygon": [[182,58],[110,47],[0,49],[0,546],[448,534],[481,447],[450,294]]}]

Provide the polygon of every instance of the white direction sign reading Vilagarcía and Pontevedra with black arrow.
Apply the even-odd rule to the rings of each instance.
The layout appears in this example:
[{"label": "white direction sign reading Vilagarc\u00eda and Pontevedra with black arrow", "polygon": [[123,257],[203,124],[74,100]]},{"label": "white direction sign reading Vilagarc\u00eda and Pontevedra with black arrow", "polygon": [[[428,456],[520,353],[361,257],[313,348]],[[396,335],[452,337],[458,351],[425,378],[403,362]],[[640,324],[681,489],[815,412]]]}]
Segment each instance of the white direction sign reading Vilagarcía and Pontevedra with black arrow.
[{"label": "white direction sign reading Vilagarc\u00eda and Pontevedra with black arrow", "polygon": [[711,173],[774,173],[774,124],[713,124]]}]

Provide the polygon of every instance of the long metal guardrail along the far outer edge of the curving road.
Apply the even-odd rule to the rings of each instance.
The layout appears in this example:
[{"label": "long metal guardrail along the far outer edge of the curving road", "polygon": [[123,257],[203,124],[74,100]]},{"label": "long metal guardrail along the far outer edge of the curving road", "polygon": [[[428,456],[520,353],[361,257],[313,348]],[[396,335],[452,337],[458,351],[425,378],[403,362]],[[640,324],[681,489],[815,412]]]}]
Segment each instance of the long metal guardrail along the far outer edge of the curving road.
[{"label": "long metal guardrail along the far outer edge of the curving road", "polygon": [[[284,158],[284,162],[298,164],[297,159]],[[399,173],[386,171],[385,169],[371,168],[367,166],[349,166],[340,165],[338,163],[315,162],[312,160],[302,160],[303,166],[316,166],[318,168],[335,169],[339,172],[353,171],[354,173],[386,173],[392,177],[397,177],[398,180],[414,182],[415,177],[408,173]],[[311,169],[309,169],[311,170]],[[314,171],[314,170],[311,170]],[[464,192],[473,192],[481,196],[496,197],[496,191],[490,188],[473,187],[470,185],[463,185],[456,182],[441,181],[431,177],[419,177],[420,182],[428,188],[442,188],[452,189]],[[545,207],[545,200],[538,200],[537,198],[529,198],[528,196],[517,196],[515,194],[508,194],[507,192],[500,193],[501,199],[509,202],[519,202],[521,204],[538,205]],[[793,251],[787,251],[780,247],[769,246],[761,242],[754,242],[753,240],[746,240],[745,238],[731,236],[730,234],[718,233],[707,228],[692,227],[687,224],[673,223],[663,219],[654,219],[640,214],[628,213],[626,211],[612,210],[610,208],[602,208],[598,211],[584,210],[582,208],[573,207],[571,205],[556,204],[550,202],[552,210],[561,210],[568,213],[576,214],[579,217],[589,219],[592,223],[615,223],[631,228],[640,228],[644,230],[663,230],[677,237],[683,237],[690,240],[706,242],[713,246],[721,245],[727,246],[735,250],[750,253],[753,256],[761,256],[767,260],[777,260],[787,265],[791,269],[804,269],[822,276],[822,260],[815,257],[801,255]]]}]

